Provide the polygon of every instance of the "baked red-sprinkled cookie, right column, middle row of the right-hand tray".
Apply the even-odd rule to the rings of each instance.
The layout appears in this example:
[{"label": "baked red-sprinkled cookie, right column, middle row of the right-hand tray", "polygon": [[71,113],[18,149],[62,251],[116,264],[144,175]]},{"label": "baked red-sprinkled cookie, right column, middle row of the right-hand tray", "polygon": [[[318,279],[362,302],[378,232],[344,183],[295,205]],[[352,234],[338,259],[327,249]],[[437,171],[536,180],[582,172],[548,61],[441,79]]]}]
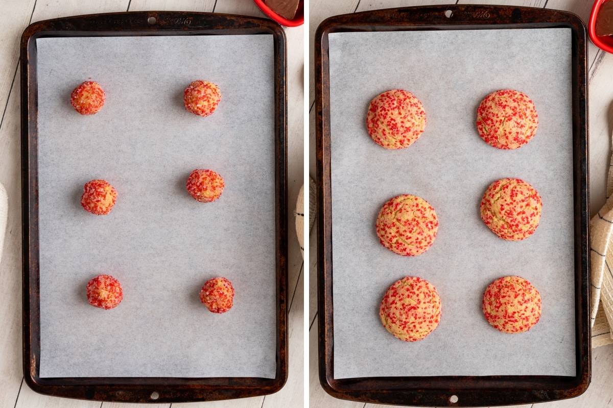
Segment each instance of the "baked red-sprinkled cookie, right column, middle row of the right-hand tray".
[{"label": "baked red-sprinkled cookie, right column, middle row of the right-hand tray", "polygon": [[543,202],[530,184],[520,179],[496,180],[481,199],[481,220],[494,234],[520,241],[534,234]]}]

